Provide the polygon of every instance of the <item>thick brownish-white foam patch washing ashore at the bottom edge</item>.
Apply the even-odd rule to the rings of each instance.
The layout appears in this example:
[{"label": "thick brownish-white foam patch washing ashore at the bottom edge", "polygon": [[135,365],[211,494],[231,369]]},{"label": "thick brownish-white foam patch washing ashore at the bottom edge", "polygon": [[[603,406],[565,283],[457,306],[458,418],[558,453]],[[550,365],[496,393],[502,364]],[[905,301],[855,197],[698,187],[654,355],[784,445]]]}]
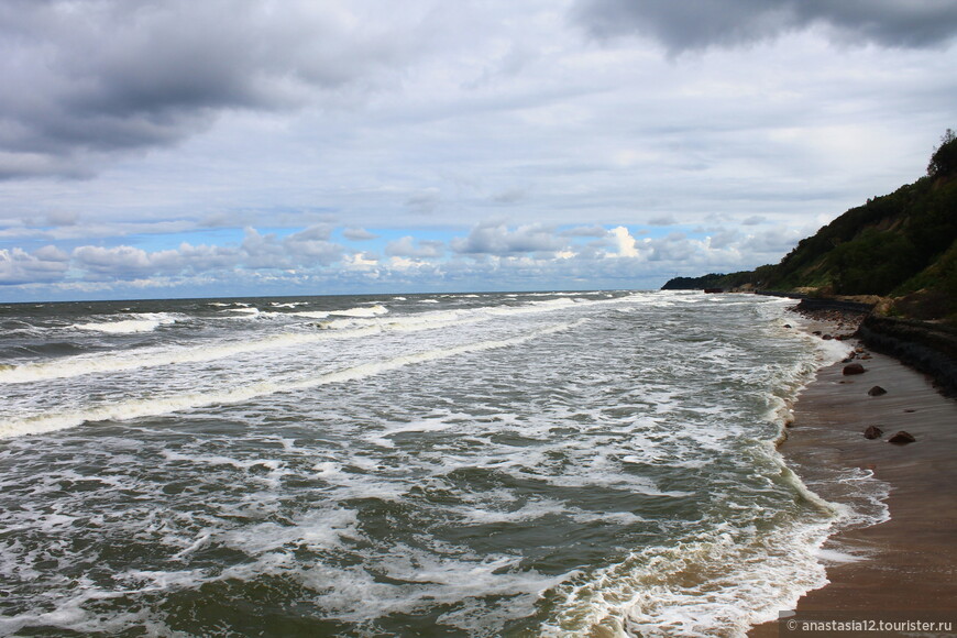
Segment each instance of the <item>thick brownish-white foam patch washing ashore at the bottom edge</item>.
[{"label": "thick brownish-white foam patch washing ashore at the bottom edge", "polygon": [[[721,531],[679,547],[649,547],[559,587],[544,636],[745,636],[826,584],[817,561],[829,521],[768,532]],[[769,558],[773,557],[773,560]]]}]

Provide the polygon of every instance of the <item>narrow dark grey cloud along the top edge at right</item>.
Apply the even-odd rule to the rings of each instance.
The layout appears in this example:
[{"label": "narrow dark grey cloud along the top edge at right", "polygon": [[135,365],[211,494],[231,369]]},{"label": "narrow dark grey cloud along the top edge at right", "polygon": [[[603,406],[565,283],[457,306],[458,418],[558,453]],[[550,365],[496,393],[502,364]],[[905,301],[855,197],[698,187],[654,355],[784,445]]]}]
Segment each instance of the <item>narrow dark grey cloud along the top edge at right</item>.
[{"label": "narrow dark grey cloud along the top edge at right", "polygon": [[637,32],[673,53],[749,44],[812,25],[848,42],[912,48],[957,33],[953,0],[580,0],[574,16],[600,37]]}]

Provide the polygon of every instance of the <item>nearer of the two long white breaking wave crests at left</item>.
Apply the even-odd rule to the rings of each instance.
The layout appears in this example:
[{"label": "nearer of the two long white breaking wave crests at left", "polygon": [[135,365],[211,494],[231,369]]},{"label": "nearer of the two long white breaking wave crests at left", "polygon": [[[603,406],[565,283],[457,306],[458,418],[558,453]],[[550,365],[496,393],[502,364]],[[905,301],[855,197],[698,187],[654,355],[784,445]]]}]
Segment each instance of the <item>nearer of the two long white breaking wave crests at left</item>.
[{"label": "nearer of the two long white breaking wave crests at left", "polygon": [[442,359],[450,359],[462,354],[509,348],[547,334],[553,334],[574,328],[585,320],[570,323],[558,323],[540,328],[507,339],[479,341],[454,348],[427,350],[413,354],[405,354],[383,361],[372,361],[360,365],[329,372],[315,377],[276,380],[255,383],[219,393],[188,393],[166,397],[148,399],[131,399],[119,402],[113,405],[90,407],[81,410],[72,410],[61,414],[42,415],[14,419],[0,422],[0,438],[16,437],[23,435],[38,435],[55,430],[76,427],[89,421],[127,421],[131,419],[166,415],[170,413],[196,409],[210,405],[237,404],[257,397],[268,396],[283,392],[296,392],[312,387],[336,383],[359,381],[373,375],[399,370],[407,365],[416,365]]}]

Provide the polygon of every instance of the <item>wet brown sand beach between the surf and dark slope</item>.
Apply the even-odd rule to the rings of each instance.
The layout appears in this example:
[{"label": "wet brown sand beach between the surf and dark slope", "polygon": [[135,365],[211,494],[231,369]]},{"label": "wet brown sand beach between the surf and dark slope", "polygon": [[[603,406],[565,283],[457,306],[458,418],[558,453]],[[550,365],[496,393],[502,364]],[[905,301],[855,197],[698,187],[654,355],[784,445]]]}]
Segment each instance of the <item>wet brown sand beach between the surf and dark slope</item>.
[{"label": "wet brown sand beach between the surf and dark slope", "polygon": [[[810,320],[802,329],[838,334],[847,331],[838,323],[854,318],[832,312]],[[957,400],[891,356],[864,351],[854,362],[866,372],[844,375],[846,362],[817,371],[798,396],[779,451],[802,481],[838,504],[849,497],[842,493],[847,485],[835,483],[835,471],[871,472],[888,487],[890,518],[831,536],[821,552],[829,582],[804,594],[796,610],[870,617],[946,612],[957,620]],[[887,394],[869,395],[873,386]],[[868,426],[883,435],[866,439]],[[900,430],[916,441],[889,443]],[[778,622],[748,632],[778,635]]]}]

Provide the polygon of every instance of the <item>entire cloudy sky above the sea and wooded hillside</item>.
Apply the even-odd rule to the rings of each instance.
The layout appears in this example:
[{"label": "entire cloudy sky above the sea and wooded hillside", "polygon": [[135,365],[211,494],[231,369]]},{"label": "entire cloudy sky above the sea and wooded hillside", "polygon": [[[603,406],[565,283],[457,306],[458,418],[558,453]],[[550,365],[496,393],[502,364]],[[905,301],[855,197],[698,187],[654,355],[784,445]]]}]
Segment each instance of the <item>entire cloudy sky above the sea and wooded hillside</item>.
[{"label": "entire cloudy sky above the sea and wooded hillside", "polygon": [[3,0],[0,302],[649,289],[957,128],[953,0]]}]

